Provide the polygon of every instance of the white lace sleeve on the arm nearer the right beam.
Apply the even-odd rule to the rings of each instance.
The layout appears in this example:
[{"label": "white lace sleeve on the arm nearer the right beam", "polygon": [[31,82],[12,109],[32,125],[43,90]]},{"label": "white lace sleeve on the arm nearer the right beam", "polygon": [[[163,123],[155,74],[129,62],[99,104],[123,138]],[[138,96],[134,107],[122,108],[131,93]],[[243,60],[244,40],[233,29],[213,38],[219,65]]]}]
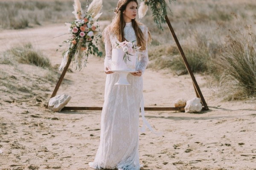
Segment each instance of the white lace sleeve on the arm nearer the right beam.
[{"label": "white lace sleeve on the arm nearer the right beam", "polygon": [[143,34],[145,36],[146,49],[140,50],[139,65],[136,69],[137,71],[141,70],[142,72],[145,71],[148,64],[148,28],[145,26],[144,26]]}]

